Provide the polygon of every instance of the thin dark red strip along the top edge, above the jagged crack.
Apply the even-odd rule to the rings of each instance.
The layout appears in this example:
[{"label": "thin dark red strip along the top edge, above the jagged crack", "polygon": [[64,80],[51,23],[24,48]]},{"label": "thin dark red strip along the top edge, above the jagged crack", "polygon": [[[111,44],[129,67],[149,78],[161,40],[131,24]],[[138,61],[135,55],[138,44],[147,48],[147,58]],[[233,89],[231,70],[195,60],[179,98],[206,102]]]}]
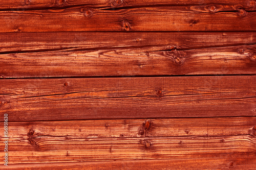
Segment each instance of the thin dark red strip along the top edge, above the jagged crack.
[{"label": "thin dark red strip along the top edge, above the jagged crack", "polygon": [[15,10],[27,10],[27,9],[51,9],[51,8],[67,8],[72,6],[82,6],[86,5],[87,7],[112,7],[114,8],[120,8],[120,7],[133,7],[133,6],[174,6],[178,4],[183,5],[217,5],[221,9],[238,9],[243,8],[247,10],[253,10],[255,9],[255,3],[254,1],[245,1],[245,0],[215,0],[215,1],[209,1],[209,0],[194,0],[193,2],[189,0],[143,0],[143,1],[136,1],[136,0],[120,0],[120,1],[107,1],[107,0],[98,0],[98,1],[92,1],[92,0],[9,0],[9,1],[2,1],[0,2],[0,9],[1,10],[8,10],[8,9],[14,9]]}]

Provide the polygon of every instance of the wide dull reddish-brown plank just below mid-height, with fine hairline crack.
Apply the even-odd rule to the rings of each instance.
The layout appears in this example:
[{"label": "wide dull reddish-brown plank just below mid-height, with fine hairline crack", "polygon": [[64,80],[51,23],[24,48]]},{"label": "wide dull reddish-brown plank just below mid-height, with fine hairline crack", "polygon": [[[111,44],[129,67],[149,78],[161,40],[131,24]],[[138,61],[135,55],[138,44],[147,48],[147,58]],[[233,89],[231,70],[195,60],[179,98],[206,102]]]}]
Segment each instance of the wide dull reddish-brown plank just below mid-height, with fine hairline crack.
[{"label": "wide dull reddish-brown plank just below mid-height, with fine hairline crack", "polygon": [[255,116],[256,76],[1,80],[10,122]]}]

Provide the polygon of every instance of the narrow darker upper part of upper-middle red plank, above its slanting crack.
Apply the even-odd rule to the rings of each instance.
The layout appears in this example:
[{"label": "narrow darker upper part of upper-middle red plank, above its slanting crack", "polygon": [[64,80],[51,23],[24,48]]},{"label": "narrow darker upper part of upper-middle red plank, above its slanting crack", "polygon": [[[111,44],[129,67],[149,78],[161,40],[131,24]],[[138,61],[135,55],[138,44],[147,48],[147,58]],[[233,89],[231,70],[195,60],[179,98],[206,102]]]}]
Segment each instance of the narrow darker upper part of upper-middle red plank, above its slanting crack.
[{"label": "narrow darker upper part of upper-middle red plank, above its slanting crack", "polygon": [[176,46],[178,50],[256,44],[255,32],[0,33],[0,54]]}]

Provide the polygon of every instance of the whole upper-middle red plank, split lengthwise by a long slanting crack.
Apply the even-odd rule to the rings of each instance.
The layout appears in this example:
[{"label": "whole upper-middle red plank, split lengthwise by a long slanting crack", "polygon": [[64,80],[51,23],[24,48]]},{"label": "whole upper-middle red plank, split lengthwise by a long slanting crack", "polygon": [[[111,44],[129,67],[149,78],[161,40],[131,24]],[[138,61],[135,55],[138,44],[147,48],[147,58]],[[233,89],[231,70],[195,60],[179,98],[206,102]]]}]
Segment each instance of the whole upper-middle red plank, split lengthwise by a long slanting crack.
[{"label": "whole upper-middle red plank, split lengthwise by a long slanting crack", "polygon": [[0,38],[0,78],[256,74],[255,38],[254,32],[9,33]]}]

